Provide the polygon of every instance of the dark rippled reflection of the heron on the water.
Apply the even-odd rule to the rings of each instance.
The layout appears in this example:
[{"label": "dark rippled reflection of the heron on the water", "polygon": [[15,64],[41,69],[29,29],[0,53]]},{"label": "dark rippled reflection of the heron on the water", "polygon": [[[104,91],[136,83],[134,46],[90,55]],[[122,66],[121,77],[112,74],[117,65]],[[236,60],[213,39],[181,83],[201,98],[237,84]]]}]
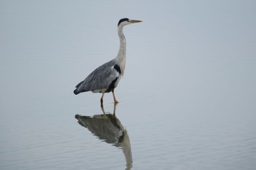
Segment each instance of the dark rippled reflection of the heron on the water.
[{"label": "dark rippled reflection of the heron on the water", "polygon": [[116,104],[114,105],[113,114],[105,114],[103,105],[102,112],[102,115],[94,115],[93,117],[75,115],[75,118],[78,119],[80,125],[88,128],[89,131],[95,136],[98,136],[100,140],[121,148],[127,162],[126,169],[131,169],[132,150],[129,143],[129,136],[127,130],[116,117]]}]

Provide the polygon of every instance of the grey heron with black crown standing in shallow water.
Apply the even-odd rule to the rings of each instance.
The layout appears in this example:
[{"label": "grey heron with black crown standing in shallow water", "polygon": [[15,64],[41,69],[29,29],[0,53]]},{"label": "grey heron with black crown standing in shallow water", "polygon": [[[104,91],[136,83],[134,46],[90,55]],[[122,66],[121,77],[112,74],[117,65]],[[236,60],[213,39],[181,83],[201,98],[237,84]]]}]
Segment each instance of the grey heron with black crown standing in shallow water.
[{"label": "grey heron with black crown standing in shallow water", "polygon": [[141,20],[129,20],[128,18],[123,18],[118,22],[118,36],[120,39],[120,47],[116,58],[107,63],[102,64],[97,69],[95,69],[85,80],[78,83],[75,86],[74,93],[92,91],[93,93],[102,93],[100,98],[101,104],[103,103],[104,93],[113,93],[113,99],[115,104],[118,103],[114,93],[114,89],[117,87],[121,76],[124,75],[125,63],[126,63],[126,39],[124,37],[123,28],[124,26],[131,23],[140,23]]}]

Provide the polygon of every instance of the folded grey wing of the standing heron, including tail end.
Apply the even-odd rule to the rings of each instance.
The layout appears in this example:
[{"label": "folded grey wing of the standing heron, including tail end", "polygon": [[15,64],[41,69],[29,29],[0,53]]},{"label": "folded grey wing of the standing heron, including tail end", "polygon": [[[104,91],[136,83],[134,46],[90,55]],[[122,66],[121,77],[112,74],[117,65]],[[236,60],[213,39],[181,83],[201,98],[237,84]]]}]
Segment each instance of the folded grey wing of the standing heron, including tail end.
[{"label": "folded grey wing of the standing heron, including tail end", "polygon": [[107,90],[110,87],[111,82],[113,82],[113,80],[116,80],[116,78],[119,77],[120,74],[116,69],[114,69],[114,66],[116,66],[116,61],[114,60],[109,61],[102,66],[99,66],[97,69],[94,70],[94,72],[91,72],[91,74],[86,77],[86,80],[83,80],[83,82],[80,82],[76,86],[76,92],[104,92],[105,90]]}]

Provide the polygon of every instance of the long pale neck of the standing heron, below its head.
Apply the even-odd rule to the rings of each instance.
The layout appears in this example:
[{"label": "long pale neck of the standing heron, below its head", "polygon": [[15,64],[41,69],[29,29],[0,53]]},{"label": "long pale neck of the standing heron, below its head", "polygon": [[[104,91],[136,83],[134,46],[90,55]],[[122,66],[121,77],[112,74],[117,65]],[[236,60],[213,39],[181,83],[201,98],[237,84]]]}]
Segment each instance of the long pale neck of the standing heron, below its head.
[{"label": "long pale neck of the standing heron, below its head", "polygon": [[125,40],[125,37],[124,37],[124,32],[123,32],[123,27],[118,27],[118,36],[119,36],[119,39],[120,39],[120,47],[119,47],[119,50],[118,50],[118,54],[116,56],[116,61],[117,63],[119,64],[120,66],[120,69],[121,69],[121,74],[123,75],[124,74],[124,69],[125,69],[125,62],[126,62],[126,53],[127,53],[127,50],[126,50],[126,47],[127,47],[127,42]]}]

